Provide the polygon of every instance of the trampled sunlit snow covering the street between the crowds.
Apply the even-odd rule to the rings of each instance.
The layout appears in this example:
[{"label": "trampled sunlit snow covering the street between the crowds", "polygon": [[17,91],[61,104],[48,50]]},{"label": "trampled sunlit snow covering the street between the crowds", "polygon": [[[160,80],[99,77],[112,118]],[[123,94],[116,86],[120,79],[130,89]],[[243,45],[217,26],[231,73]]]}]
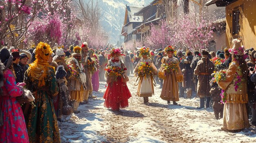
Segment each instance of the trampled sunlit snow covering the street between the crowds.
[{"label": "trampled sunlit snow covering the street between the crowds", "polygon": [[199,99],[180,98],[182,106],[168,105],[159,96],[149,97],[148,105],[137,97],[135,77],[129,77],[128,88],[132,93],[129,107],[119,112],[104,108],[103,94],[106,83],[100,83],[97,99],[79,105],[81,113],[65,117],[60,123],[61,140],[64,143],[256,143],[256,128],[243,132],[224,132],[222,119],[214,119],[213,109],[195,109]]}]

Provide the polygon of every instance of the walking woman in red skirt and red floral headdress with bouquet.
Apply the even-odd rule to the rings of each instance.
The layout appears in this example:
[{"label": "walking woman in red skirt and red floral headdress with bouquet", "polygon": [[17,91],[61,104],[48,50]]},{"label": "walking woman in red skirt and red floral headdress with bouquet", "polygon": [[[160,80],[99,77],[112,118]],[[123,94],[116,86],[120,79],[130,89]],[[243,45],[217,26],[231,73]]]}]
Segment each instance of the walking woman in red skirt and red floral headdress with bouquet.
[{"label": "walking woman in red skirt and red floral headdress with bouquet", "polygon": [[128,99],[132,96],[126,85],[129,79],[126,76],[127,68],[121,61],[121,55],[120,49],[112,48],[109,55],[111,59],[105,69],[108,87],[103,96],[104,107],[111,108],[113,111],[128,107]]}]

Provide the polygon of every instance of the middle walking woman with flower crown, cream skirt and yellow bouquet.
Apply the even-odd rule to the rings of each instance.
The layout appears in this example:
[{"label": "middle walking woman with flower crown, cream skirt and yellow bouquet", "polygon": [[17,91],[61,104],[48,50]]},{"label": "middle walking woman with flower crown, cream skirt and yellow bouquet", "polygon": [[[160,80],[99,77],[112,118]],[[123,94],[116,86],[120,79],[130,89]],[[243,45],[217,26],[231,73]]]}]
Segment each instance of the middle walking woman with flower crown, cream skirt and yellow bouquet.
[{"label": "middle walking woman with flower crown, cream skirt and yellow bouquet", "polygon": [[153,76],[157,74],[157,68],[153,64],[152,60],[148,58],[150,56],[150,49],[145,46],[139,50],[139,55],[142,57],[134,73],[139,79],[137,95],[143,97],[144,103],[148,103],[148,97],[154,94]]}]

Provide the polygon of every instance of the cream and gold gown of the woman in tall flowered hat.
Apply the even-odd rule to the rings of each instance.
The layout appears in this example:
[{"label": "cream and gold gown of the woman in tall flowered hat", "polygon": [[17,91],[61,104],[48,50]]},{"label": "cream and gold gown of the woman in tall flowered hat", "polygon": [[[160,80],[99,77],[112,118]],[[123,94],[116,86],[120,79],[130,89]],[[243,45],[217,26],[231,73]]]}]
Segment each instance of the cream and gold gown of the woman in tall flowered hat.
[{"label": "cream and gold gown of the woman in tall flowered hat", "polygon": [[218,82],[218,85],[227,94],[227,102],[224,104],[223,111],[223,127],[228,130],[249,128],[246,109],[246,103],[248,102],[247,82],[242,78],[242,86],[236,91],[234,88],[234,84],[237,81],[236,72],[241,75],[240,66],[237,62],[231,62],[227,70],[226,80]]}]

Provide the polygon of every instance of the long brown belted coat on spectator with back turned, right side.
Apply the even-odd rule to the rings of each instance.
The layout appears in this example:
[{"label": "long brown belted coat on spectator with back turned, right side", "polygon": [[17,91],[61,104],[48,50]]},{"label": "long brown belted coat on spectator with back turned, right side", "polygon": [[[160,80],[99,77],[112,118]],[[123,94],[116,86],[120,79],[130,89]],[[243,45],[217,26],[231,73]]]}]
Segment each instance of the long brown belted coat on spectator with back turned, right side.
[{"label": "long brown belted coat on spectator with back turned, right side", "polygon": [[198,96],[203,98],[204,96],[210,95],[210,79],[211,74],[214,71],[214,64],[207,57],[202,57],[200,61],[198,61],[198,65],[195,67],[194,74],[198,75]]}]

